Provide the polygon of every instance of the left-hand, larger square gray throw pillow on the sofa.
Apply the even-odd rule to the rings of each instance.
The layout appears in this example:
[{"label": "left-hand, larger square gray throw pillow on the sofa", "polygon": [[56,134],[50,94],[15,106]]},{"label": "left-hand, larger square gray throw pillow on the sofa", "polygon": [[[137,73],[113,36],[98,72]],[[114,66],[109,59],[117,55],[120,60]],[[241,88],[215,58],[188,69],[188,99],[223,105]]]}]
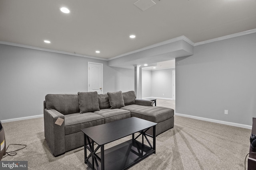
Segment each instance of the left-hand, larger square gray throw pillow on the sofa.
[{"label": "left-hand, larger square gray throw pillow on the sofa", "polygon": [[78,92],[80,113],[100,110],[97,92]]}]

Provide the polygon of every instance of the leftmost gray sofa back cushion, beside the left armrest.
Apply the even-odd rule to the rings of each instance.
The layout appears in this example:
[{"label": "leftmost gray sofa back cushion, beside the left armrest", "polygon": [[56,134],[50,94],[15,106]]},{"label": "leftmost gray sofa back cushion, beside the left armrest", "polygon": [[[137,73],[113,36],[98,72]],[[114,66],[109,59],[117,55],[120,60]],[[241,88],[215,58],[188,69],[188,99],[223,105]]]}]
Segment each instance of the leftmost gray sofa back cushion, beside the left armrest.
[{"label": "leftmost gray sofa back cushion, beside the left armrest", "polygon": [[46,109],[55,109],[64,115],[79,112],[77,94],[47,94],[45,103]]}]

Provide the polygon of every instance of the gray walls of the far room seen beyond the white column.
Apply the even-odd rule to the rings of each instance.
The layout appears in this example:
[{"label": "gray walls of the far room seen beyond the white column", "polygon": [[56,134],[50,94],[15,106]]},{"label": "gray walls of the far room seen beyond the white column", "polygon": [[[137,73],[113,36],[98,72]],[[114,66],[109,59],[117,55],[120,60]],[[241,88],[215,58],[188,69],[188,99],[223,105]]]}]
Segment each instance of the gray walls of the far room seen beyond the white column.
[{"label": "gray walls of the far room seen beyond the white column", "polygon": [[173,70],[175,70],[175,68],[152,71],[142,70],[142,98],[155,97],[172,99]]}]

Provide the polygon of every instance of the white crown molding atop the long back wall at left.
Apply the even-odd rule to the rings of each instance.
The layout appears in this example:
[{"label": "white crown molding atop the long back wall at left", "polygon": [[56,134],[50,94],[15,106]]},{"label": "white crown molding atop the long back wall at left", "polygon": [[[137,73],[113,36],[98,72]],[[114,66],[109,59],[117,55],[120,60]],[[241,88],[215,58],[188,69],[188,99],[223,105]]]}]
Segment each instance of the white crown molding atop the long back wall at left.
[{"label": "white crown molding atop the long back wall at left", "polygon": [[92,57],[92,56],[88,56],[88,55],[82,55],[82,54],[76,54],[76,53],[70,53],[70,52],[58,51],[58,50],[52,50],[52,49],[45,49],[45,48],[41,48],[41,47],[34,47],[34,46],[23,45],[23,44],[18,44],[18,43],[10,43],[10,42],[6,42],[6,41],[0,41],[0,44],[12,45],[12,46],[16,46],[16,47],[24,47],[24,48],[27,48],[27,49],[36,49],[36,50],[53,52],[53,53],[74,55],[74,56],[86,57],[86,58],[90,58],[90,59],[98,59],[98,60],[108,61],[108,59],[103,59],[103,58],[100,58],[100,57]]}]

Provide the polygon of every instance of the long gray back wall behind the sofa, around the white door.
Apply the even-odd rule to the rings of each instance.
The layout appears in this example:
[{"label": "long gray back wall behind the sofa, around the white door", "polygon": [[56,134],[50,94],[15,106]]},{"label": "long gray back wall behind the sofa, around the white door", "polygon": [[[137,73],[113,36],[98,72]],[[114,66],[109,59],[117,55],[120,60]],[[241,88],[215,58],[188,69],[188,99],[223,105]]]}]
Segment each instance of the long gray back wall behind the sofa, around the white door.
[{"label": "long gray back wall behind the sofa, around the white door", "polygon": [[0,120],[43,114],[46,94],[88,91],[88,61],[103,63],[104,93],[134,90],[134,70],[107,61],[0,44]]}]

